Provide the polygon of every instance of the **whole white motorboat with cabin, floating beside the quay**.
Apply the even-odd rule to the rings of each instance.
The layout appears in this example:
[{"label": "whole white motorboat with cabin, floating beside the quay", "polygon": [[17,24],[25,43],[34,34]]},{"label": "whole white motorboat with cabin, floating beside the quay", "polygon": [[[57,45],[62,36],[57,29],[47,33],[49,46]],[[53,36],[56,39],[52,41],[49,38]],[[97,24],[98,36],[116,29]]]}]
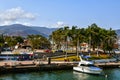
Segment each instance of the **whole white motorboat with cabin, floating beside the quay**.
[{"label": "whole white motorboat with cabin, floating beside the quay", "polygon": [[101,74],[103,72],[101,68],[94,66],[92,61],[86,61],[82,59],[77,67],[73,67],[73,70],[89,74]]}]

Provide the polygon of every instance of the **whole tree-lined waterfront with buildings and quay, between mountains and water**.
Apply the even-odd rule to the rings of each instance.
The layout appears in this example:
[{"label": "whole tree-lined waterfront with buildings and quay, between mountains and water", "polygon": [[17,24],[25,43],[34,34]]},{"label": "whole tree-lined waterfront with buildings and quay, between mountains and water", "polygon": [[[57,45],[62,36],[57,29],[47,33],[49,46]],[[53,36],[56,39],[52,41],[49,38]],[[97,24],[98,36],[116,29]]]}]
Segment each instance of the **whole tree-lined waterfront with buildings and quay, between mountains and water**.
[{"label": "whole tree-lined waterfront with buildings and quay, between mountains and water", "polygon": [[[102,32],[101,32],[102,31]],[[92,24],[88,28],[72,29],[65,26],[42,35],[1,35],[0,67],[2,73],[72,69],[83,56],[98,67],[119,67],[118,36],[114,30],[105,30]],[[104,41],[104,42],[103,42]]]}]

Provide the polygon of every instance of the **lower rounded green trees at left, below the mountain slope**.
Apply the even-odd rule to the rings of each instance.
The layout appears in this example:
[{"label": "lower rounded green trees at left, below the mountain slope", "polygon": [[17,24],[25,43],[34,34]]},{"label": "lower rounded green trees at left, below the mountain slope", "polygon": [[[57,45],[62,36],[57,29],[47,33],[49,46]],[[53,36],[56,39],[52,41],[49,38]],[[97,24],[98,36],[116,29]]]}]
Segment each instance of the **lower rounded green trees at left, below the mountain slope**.
[{"label": "lower rounded green trees at left, below the mountain slope", "polygon": [[31,46],[32,49],[50,48],[50,42],[42,35],[28,35],[26,38],[21,36],[0,35],[0,47],[14,48],[15,45]]}]

